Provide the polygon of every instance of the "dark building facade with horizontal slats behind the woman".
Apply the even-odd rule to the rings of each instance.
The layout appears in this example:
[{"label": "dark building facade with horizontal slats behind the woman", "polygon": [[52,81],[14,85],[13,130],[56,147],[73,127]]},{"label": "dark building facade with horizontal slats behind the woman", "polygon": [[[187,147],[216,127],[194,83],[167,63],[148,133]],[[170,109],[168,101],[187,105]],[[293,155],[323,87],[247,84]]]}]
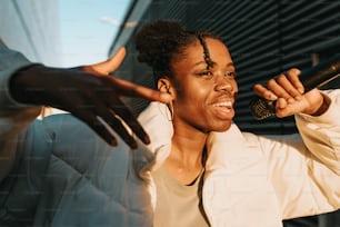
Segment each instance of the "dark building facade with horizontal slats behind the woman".
[{"label": "dark building facade with horizontal slats behind the woman", "polygon": [[[254,120],[249,102],[252,86],[288,70],[308,69],[340,52],[340,0],[140,0],[133,1],[110,53],[126,46],[129,56],[119,77],[152,87],[150,68],[136,60],[133,34],[143,22],[157,19],[178,20],[192,30],[209,30],[228,45],[237,68],[239,96],[234,121],[246,131],[257,134],[291,134],[294,119]],[[336,79],[323,88],[339,88]],[[138,114],[142,100],[128,100]],[[287,226],[336,227],[334,214],[297,219]],[[338,224],[339,225],[339,224]]]}]

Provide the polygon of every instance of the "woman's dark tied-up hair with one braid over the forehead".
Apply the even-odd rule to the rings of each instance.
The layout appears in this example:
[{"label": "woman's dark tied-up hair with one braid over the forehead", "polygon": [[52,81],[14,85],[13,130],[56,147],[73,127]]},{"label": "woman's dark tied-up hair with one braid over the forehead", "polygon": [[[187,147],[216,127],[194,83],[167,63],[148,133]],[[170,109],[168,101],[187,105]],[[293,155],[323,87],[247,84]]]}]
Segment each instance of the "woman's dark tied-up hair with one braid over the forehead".
[{"label": "woman's dark tied-up hair with one braid over the forehead", "polygon": [[158,20],[153,23],[144,24],[137,32],[138,60],[152,68],[156,81],[164,76],[173,78],[171,63],[183,58],[183,50],[199,40],[203,47],[202,55],[207,62],[207,68],[210,68],[212,67],[212,60],[206,45],[206,38],[219,39],[210,32],[186,30],[177,21]]}]

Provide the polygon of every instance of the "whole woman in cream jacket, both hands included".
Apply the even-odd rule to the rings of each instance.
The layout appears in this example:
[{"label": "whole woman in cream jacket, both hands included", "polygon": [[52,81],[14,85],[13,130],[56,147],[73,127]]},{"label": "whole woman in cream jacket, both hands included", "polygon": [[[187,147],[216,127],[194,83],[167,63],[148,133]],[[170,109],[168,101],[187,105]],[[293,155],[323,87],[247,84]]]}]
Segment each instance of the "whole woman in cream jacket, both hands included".
[{"label": "whole woman in cream jacket, both hands included", "polygon": [[[257,86],[277,99],[279,117],[296,115],[303,142],[257,137],[232,122],[236,72],[219,39],[160,21],[138,33],[137,46],[161,92],[106,76],[123,50],[103,63],[54,69],[0,46],[2,225],[279,227],[338,209],[339,91],[303,93],[298,70]],[[121,95],[169,103],[140,116],[151,144]],[[41,105],[73,116],[34,120]]]}]

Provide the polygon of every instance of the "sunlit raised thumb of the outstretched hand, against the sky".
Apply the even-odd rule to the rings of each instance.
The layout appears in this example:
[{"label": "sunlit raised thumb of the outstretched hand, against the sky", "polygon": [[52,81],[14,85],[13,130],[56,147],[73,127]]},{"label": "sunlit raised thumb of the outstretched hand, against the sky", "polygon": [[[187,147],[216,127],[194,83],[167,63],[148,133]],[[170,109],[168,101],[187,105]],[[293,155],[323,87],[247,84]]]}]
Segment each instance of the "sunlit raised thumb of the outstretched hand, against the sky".
[{"label": "sunlit raised thumb of the outstretched hand, against the sky", "polygon": [[109,75],[112,71],[116,71],[118,67],[123,61],[127,55],[127,50],[124,47],[121,47],[111,58],[106,61],[90,65],[84,67],[88,71],[94,71],[100,75]]}]

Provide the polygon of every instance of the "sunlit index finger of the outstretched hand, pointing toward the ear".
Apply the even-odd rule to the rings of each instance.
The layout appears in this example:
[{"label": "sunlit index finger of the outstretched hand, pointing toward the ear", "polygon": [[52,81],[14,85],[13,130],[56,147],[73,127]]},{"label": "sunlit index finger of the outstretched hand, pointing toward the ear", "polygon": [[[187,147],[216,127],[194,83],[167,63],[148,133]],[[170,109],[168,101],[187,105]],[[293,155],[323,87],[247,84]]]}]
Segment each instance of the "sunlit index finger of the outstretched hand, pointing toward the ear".
[{"label": "sunlit index finger of the outstretched hand, pointing toward the ear", "polygon": [[147,88],[144,86],[140,86],[127,80],[122,80],[119,78],[110,78],[110,80],[116,83],[114,87],[119,89],[118,93],[120,96],[139,97],[148,99],[150,101],[160,101],[163,103],[168,103],[172,99],[169,93],[160,92],[158,90],[153,90],[151,88]]}]

